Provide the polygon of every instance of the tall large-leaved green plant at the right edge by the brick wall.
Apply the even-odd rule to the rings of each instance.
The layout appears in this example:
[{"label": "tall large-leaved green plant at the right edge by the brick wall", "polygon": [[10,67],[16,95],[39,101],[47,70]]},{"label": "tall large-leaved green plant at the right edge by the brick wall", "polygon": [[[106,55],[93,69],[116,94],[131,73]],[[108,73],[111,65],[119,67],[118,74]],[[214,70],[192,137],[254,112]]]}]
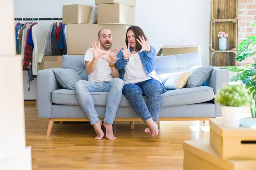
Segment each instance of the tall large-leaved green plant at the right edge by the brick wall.
[{"label": "tall large-leaved green plant at the right edge by the brick wall", "polygon": [[[256,27],[255,23],[251,23],[252,26]],[[249,105],[252,117],[256,117],[256,60],[253,57],[256,54],[254,48],[256,47],[256,36],[247,37],[243,40],[237,50],[235,59],[239,62],[243,61],[248,57],[252,57],[254,63],[244,65],[241,68],[235,66],[228,66],[221,69],[227,69],[229,71],[236,72],[237,74],[230,78],[230,82],[241,81],[246,85],[248,93],[250,95]]]}]

